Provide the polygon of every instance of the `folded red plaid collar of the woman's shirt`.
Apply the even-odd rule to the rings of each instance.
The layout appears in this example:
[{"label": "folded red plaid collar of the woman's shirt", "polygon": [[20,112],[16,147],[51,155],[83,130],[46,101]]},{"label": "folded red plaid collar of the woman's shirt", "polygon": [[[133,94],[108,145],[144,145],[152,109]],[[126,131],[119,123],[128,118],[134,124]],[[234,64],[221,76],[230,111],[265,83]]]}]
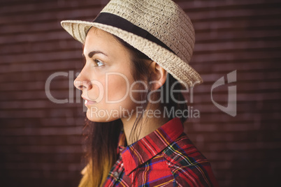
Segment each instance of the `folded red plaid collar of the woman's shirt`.
[{"label": "folded red plaid collar of the woman's shirt", "polygon": [[127,147],[119,146],[118,152],[120,151],[122,156],[125,174],[129,176],[139,165],[159,154],[182,132],[182,123],[179,118],[175,117],[141,140]]}]

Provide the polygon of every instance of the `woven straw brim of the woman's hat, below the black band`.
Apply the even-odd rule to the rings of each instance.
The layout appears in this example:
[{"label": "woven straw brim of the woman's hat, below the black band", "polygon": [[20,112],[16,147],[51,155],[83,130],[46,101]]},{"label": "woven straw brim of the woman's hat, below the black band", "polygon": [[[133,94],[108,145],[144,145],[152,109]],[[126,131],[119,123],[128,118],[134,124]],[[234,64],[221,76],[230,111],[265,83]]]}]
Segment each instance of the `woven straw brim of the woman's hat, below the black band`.
[{"label": "woven straw brim of the woman's hat, below the black band", "polygon": [[194,87],[195,85],[203,82],[199,73],[189,66],[188,63],[182,61],[182,59],[173,52],[166,50],[164,47],[161,47],[150,40],[137,36],[134,33],[106,24],[80,20],[65,20],[62,21],[61,24],[62,27],[69,32],[75,40],[80,41],[80,43],[85,43],[87,31],[89,31],[91,27],[96,27],[111,33],[119,38],[122,38],[122,40],[146,54],[147,57],[150,57],[150,59],[158,63],[168,73],[175,77],[176,80],[185,86]]}]

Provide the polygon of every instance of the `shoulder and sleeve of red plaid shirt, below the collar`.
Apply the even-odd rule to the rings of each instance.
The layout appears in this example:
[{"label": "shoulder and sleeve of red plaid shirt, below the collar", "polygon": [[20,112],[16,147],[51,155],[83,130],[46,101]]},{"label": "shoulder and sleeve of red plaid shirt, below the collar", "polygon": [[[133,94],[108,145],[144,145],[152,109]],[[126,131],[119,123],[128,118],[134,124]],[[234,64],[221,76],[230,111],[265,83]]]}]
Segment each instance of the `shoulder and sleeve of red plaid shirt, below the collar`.
[{"label": "shoulder and sleeve of red plaid shirt, below the collar", "polygon": [[178,186],[218,186],[209,161],[185,133],[162,154]]}]

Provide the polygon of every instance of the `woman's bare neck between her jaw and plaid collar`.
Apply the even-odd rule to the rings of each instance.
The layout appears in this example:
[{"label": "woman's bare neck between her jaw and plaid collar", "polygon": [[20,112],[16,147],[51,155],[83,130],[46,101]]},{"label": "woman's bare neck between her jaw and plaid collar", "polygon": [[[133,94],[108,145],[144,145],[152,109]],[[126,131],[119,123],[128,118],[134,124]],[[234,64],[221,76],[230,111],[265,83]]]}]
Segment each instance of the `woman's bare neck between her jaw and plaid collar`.
[{"label": "woman's bare neck between her jaw and plaid collar", "polygon": [[[141,120],[138,123],[137,131],[140,132],[138,133],[138,140],[141,140],[141,138],[145,137],[146,135],[149,135],[152,133],[154,130],[157,130],[157,128],[161,127],[162,125],[166,124],[169,119],[166,117],[152,117],[153,115],[151,112],[154,112],[154,110],[151,108],[150,109],[150,115],[147,115],[147,111],[145,111],[145,114],[141,118]],[[134,142],[131,142],[129,140],[129,136],[131,134],[131,130],[134,126],[134,122],[136,121],[136,112],[130,117],[130,118],[122,118],[122,123],[123,123],[123,128],[124,128],[124,134],[126,136],[127,144],[132,144]],[[141,128],[139,128],[141,125]],[[134,136],[134,135],[133,135]]]}]

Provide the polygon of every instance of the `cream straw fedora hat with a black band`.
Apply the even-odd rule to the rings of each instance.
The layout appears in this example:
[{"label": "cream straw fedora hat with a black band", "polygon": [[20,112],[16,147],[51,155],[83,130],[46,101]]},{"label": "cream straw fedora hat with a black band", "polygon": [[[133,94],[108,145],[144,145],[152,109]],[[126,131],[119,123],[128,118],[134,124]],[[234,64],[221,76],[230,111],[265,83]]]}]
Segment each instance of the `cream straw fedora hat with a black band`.
[{"label": "cream straw fedora hat with a black band", "polygon": [[61,24],[81,43],[91,27],[107,31],[146,54],[185,86],[203,82],[189,66],[195,42],[192,22],[171,0],[111,0],[93,22],[66,20]]}]

